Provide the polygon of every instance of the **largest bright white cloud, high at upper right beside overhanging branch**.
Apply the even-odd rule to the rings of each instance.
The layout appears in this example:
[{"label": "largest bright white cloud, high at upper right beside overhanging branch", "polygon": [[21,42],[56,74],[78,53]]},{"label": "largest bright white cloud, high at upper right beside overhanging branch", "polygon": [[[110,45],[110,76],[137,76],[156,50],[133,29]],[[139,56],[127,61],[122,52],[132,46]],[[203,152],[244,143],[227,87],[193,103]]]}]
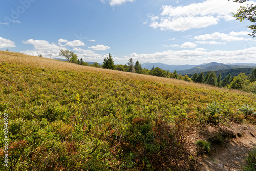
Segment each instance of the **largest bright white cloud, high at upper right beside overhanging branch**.
[{"label": "largest bright white cloud, high at upper right beside overhanging branch", "polygon": [[[248,1],[242,5],[246,6]],[[160,30],[185,31],[216,25],[220,20],[230,21],[232,12],[236,12],[240,3],[223,0],[207,0],[187,6],[162,6],[161,18],[152,15],[150,27]]]}]

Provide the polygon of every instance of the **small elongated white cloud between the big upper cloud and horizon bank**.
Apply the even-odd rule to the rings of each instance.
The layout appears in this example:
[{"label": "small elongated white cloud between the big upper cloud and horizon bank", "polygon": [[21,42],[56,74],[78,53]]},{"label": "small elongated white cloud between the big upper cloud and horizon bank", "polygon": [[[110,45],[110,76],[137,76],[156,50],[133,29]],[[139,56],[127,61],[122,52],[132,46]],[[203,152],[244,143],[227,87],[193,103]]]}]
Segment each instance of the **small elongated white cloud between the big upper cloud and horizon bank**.
[{"label": "small elongated white cloud between the big upper cloud and horizon bank", "polygon": [[221,39],[222,41],[241,41],[241,40],[251,40],[251,38],[243,38],[243,37],[236,37],[236,36],[231,36],[231,35],[242,35],[244,32],[231,32],[229,35],[225,33],[219,33],[215,32],[212,34],[204,34],[204,35],[199,35],[195,36],[194,39],[196,40],[217,40]]}]

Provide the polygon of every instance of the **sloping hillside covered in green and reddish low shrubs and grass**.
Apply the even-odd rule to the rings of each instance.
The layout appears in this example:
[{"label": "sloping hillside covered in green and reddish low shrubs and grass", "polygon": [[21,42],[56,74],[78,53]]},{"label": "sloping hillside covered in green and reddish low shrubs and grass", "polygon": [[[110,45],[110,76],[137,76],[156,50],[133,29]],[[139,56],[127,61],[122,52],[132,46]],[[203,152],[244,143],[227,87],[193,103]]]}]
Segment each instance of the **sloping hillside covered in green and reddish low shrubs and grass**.
[{"label": "sloping hillside covered in green and reddish low shrubs and grass", "polygon": [[10,170],[193,170],[191,132],[256,121],[238,110],[253,94],[13,52],[0,51],[0,90]]}]

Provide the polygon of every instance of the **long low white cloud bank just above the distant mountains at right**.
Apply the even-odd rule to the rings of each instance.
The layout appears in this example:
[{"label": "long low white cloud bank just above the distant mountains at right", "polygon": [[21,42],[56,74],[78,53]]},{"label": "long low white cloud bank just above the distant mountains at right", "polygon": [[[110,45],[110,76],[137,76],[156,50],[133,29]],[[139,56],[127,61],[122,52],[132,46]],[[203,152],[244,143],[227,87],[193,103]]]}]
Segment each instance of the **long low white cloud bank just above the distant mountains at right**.
[{"label": "long low white cloud bank just above the distant mountains at right", "polygon": [[242,50],[234,51],[205,51],[204,48],[198,48],[195,50],[182,50],[182,51],[163,51],[156,52],[152,54],[136,54],[132,53],[127,58],[133,58],[133,60],[147,61],[147,62],[156,62],[156,61],[165,61],[168,62],[203,62],[203,61],[215,61],[215,62],[256,62],[256,47],[251,47]]}]

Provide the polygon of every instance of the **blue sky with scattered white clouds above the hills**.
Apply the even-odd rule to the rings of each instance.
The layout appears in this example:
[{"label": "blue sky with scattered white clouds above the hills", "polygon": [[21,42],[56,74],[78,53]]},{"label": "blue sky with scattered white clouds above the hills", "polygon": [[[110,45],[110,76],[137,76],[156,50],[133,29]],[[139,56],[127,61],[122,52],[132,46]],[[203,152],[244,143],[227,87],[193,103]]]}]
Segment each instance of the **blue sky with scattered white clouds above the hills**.
[{"label": "blue sky with scattered white clouds above the hills", "polygon": [[[228,0],[5,0],[0,50],[46,58],[68,49],[83,61],[174,65],[256,63],[256,38]],[[51,55],[50,55],[51,54]]]}]

